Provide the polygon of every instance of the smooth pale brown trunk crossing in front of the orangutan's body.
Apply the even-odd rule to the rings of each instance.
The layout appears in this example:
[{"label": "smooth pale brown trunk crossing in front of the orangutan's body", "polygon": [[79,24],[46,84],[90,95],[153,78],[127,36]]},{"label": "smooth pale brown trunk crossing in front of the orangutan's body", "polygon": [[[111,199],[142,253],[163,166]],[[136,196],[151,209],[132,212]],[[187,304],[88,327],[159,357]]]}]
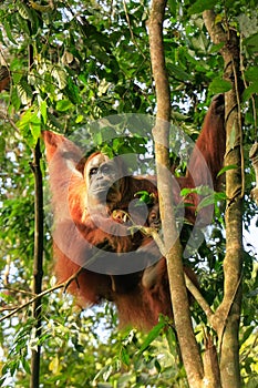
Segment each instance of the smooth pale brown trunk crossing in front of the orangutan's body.
[{"label": "smooth pale brown trunk crossing in front of the orangutan's body", "polygon": [[157,116],[153,130],[157,169],[157,187],[161,201],[164,243],[167,252],[167,272],[175,328],[189,385],[190,387],[199,388],[203,379],[203,363],[192,326],[183,272],[182,246],[176,229],[172,198],[173,191],[168,161],[171,93],[163,49],[163,19],[166,1],[154,0],[152,2],[151,17],[148,20],[151,59],[157,96]]}]

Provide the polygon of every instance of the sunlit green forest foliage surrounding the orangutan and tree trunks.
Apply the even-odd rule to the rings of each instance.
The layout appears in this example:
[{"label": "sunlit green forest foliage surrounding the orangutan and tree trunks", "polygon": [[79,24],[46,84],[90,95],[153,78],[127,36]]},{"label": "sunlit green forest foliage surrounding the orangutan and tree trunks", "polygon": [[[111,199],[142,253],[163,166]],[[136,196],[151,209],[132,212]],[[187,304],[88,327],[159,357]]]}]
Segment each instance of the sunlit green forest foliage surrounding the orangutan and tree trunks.
[{"label": "sunlit green forest foliage surrounding the orangutan and tree trunks", "polygon": [[[227,92],[220,47],[207,33],[202,12],[213,8],[218,22],[237,31],[241,52],[242,150],[245,157],[244,227],[257,227],[257,205],[250,198],[256,176],[249,149],[257,141],[258,18],[255,0],[168,1],[164,47],[171,86],[173,124],[194,141],[217,93]],[[148,335],[117,330],[114,306],[81,312],[60,290],[42,298],[42,329],[35,336],[31,299],[34,255],[33,149],[42,130],[71,136],[84,134],[84,147],[103,145],[106,134],[92,122],[111,115],[155,116],[156,96],[146,23],[149,2],[91,0],[2,1],[0,64],[10,74],[0,94],[0,370],[7,387],[30,386],[31,351],[41,345],[42,387],[186,387],[176,338],[166,319]],[[109,129],[110,130],[110,129]],[[106,152],[144,154],[145,133],[115,137]],[[44,152],[41,144],[42,154]],[[175,159],[177,155],[173,155]],[[149,156],[152,159],[152,156]],[[48,169],[44,182],[43,289],[55,284],[51,249]],[[148,166],[146,165],[146,171]],[[176,173],[184,173],[179,165]],[[218,195],[217,198],[224,198]],[[223,298],[225,257],[224,202],[215,204],[213,227],[190,265],[210,306]],[[254,226],[255,225],[255,226]],[[256,249],[255,249],[256,248]],[[258,385],[257,246],[245,245],[240,367],[245,387]],[[16,314],[7,317],[13,309]],[[206,317],[192,308],[195,333],[203,346]]]}]

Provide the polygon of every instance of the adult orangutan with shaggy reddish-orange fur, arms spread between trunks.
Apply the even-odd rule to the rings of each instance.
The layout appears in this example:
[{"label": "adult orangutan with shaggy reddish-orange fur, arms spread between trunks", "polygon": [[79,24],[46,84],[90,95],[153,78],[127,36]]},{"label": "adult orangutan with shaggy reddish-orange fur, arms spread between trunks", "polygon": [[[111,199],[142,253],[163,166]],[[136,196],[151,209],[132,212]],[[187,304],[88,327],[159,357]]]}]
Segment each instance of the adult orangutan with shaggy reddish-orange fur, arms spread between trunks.
[{"label": "adult orangutan with shaggy reddish-orange fur, arms spread between trunks", "polygon": [[[134,231],[133,235],[128,231],[132,224],[144,224],[147,216],[152,224],[149,210],[143,206],[140,212],[132,204],[141,191],[157,196],[155,177],[131,176],[120,157],[110,160],[100,152],[85,160],[80,149],[62,135],[45,131],[43,139],[54,212],[59,282],[78,274],[68,288],[78,303],[85,306],[102,299],[113,300],[121,325],[133,324],[146,329],[157,323],[161,313],[172,316],[165,259],[151,238],[146,244],[141,231]],[[214,99],[207,112],[197,147],[210,167],[217,187],[217,173],[223,167],[225,152],[224,100],[220,95]],[[182,202],[180,188],[210,183],[196,149],[186,176],[175,177],[175,204]],[[192,206],[186,207],[185,217],[194,223],[199,197],[192,194],[187,201]],[[114,216],[116,211],[130,213],[133,221],[121,221]],[[159,258],[161,264],[155,264]],[[145,269],[146,266],[152,269]],[[80,268],[82,270],[78,273]]]}]

